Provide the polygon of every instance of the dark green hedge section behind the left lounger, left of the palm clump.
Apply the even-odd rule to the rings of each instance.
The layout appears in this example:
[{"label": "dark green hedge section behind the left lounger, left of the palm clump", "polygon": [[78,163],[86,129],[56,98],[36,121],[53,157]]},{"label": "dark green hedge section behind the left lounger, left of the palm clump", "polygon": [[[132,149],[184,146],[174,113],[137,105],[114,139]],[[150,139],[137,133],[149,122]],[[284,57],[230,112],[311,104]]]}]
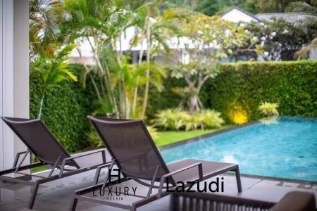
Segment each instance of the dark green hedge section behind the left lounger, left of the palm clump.
[{"label": "dark green hedge section behind the left lounger, left of the palm clump", "polygon": [[[82,65],[70,65],[74,74],[79,76]],[[30,75],[30,117],[36,118],[41,98],[41,79],[39,74]],[[73,81],[63,82],[46,92],[42,110],[42,121],[56,136],[67,151],[74,152],[89,146],[87,132],[91,126],[87,115],[92,113],[92,101],[95,99],[91,86],[82,90],[80,84]]]}]

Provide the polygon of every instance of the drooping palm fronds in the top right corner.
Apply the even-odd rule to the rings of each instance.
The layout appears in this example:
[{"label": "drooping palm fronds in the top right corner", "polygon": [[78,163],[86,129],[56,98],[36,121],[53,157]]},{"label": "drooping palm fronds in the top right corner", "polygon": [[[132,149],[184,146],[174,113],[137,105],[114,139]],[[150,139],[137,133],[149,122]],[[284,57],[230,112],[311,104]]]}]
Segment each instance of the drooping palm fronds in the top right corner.
[{"label": "drooping palm fronds in the top right corner", "polygon": [[303,12],[305,20],[294,24],[294,27],[300,27],[312,36],[311,43],[301,50],[297,51],[295,56],[298,59],[308,58],[309,52],[317,47],[317,1],[310,0],[297,1],[288,6],[293,12]]}]

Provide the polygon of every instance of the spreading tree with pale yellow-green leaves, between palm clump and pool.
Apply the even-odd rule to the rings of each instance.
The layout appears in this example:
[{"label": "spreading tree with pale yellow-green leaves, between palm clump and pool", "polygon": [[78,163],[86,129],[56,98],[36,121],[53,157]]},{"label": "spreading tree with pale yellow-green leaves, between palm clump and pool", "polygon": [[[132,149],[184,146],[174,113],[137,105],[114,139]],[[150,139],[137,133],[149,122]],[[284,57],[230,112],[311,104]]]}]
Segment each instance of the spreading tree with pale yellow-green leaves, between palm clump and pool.
[{"label": "spreading tree with pale yellow-green leaves, between palm clump and pool", "polygon": [[[180,107],[187,102],[189,112],[197,112],[204,108],[199,98],[201,88],[209,78],[216,77],[220,60],[233,54],[232,49],[246,46],[253,34],[218,16],[209,17],[183,9],[170,9],[164,14],[178,17],[175,21],[182,25],[173,57],[176,65],[170,68],[172,77],[184,78],[187,82]],[[257,43],[254,41],[248,51],[261,53]]]}]

